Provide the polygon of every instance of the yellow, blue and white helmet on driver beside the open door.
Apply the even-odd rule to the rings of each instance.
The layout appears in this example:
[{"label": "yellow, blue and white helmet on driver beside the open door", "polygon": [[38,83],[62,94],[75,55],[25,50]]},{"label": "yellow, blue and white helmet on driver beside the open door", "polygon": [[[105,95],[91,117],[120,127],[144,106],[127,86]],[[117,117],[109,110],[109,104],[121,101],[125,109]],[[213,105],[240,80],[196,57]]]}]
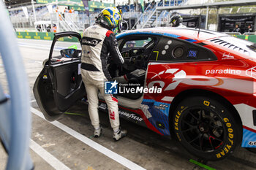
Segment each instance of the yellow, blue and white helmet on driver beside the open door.
[{"label": "yellow, blue and white helmet on driver beside the open door", "polygon": [[102,10],[96,18],[96,23],[107,27],[115,34],[121,31],[121,10],[116,7],[108,7]]}]

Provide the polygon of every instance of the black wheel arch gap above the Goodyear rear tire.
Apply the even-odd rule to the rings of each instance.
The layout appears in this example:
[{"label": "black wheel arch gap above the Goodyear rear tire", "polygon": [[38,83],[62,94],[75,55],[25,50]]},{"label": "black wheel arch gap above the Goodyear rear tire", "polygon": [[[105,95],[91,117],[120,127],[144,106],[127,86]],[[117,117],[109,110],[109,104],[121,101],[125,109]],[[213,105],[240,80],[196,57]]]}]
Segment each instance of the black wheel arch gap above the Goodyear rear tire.
[{"label": "black wheel arch gap above the Goodyear rear tire", "polygon": [[[170,128],[170,136],[175,136],[173,133],[173,115],[174,115],[174,111],[176,109],[176,107],[178,106],[178,104],[184,100],[184,98],[190,97],[190,96],[211,96],[211,98],[217,99],[222,101],[223,103],[226,104],[227,108],[230,110],[230,112],[233,112],[234,117],[236,119],[236,123],[238,123],[238,125],[241,125],[241,134],[243,134],[243,124],[241,121],[241,117],[238,114],[238,111],[236,110],[236,108],[233,106],[233,104],[230,103],[230,101],[227,100],[227,98],[219,95],[218,93],[214,93],[210,90],[202,90],[202,89],[189,89],[189,90],[184,90],[181,93],[178,93],[178,95],[173,98],[173,101],[170,105],[170,111],[169,111],[169,128]],[[242,139],[241,135],[241,139]]]}]

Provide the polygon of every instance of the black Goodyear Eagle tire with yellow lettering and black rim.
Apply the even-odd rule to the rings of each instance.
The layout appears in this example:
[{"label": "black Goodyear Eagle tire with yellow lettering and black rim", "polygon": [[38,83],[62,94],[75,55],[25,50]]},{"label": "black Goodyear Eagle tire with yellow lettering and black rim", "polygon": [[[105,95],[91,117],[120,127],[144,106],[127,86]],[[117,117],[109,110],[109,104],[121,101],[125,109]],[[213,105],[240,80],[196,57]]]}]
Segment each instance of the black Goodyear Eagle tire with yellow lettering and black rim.
[{"label": "black Goodyear Eagle tire with yellow lettering and black rim", "polygon": [[204,161],[226,158],[241,144],[242,125],[227,101],[188,97],[173,112],[173,131],[181,145]]}]

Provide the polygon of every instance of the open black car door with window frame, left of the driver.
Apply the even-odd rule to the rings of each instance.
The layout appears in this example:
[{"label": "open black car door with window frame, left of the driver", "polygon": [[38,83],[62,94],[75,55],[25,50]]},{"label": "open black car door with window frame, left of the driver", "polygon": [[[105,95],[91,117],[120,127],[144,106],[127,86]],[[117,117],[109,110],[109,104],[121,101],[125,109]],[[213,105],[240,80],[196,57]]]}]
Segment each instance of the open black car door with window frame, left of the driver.
[{"label": "open black car door with window frame, left of the driver", "polygon": [[81,50],[77,49],[80,41],[81,36],[76,32],[55,34],[49,58],[34,83],[37,104],[49,121],[56,120],[86,96],[80,74]]}]

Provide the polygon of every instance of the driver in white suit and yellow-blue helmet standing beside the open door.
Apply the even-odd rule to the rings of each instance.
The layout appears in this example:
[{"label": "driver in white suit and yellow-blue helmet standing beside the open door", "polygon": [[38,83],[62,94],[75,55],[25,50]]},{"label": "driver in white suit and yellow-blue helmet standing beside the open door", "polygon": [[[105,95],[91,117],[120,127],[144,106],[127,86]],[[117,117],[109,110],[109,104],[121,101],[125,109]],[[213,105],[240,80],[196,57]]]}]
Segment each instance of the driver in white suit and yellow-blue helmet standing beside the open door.
[{"label": "driver in white suit and yellow-blue helmet standing beside the open door", "polygon": [[111,94],[105,94],[105,82],[112,80],[107,69],[108,54],[117,65],[124,63],[115,34],[121,31],[121,11],[108,7],[99,13],[94,26],[83,31],[81,74],[86,86],[89,101],[89,116],[94,126],[94,137],[99,137],[102,128],[99,125],[98,90],[108,104],[108,112],[113,139],[118,141],[127,136],[126,130],[119,126],[118,100]]}]

